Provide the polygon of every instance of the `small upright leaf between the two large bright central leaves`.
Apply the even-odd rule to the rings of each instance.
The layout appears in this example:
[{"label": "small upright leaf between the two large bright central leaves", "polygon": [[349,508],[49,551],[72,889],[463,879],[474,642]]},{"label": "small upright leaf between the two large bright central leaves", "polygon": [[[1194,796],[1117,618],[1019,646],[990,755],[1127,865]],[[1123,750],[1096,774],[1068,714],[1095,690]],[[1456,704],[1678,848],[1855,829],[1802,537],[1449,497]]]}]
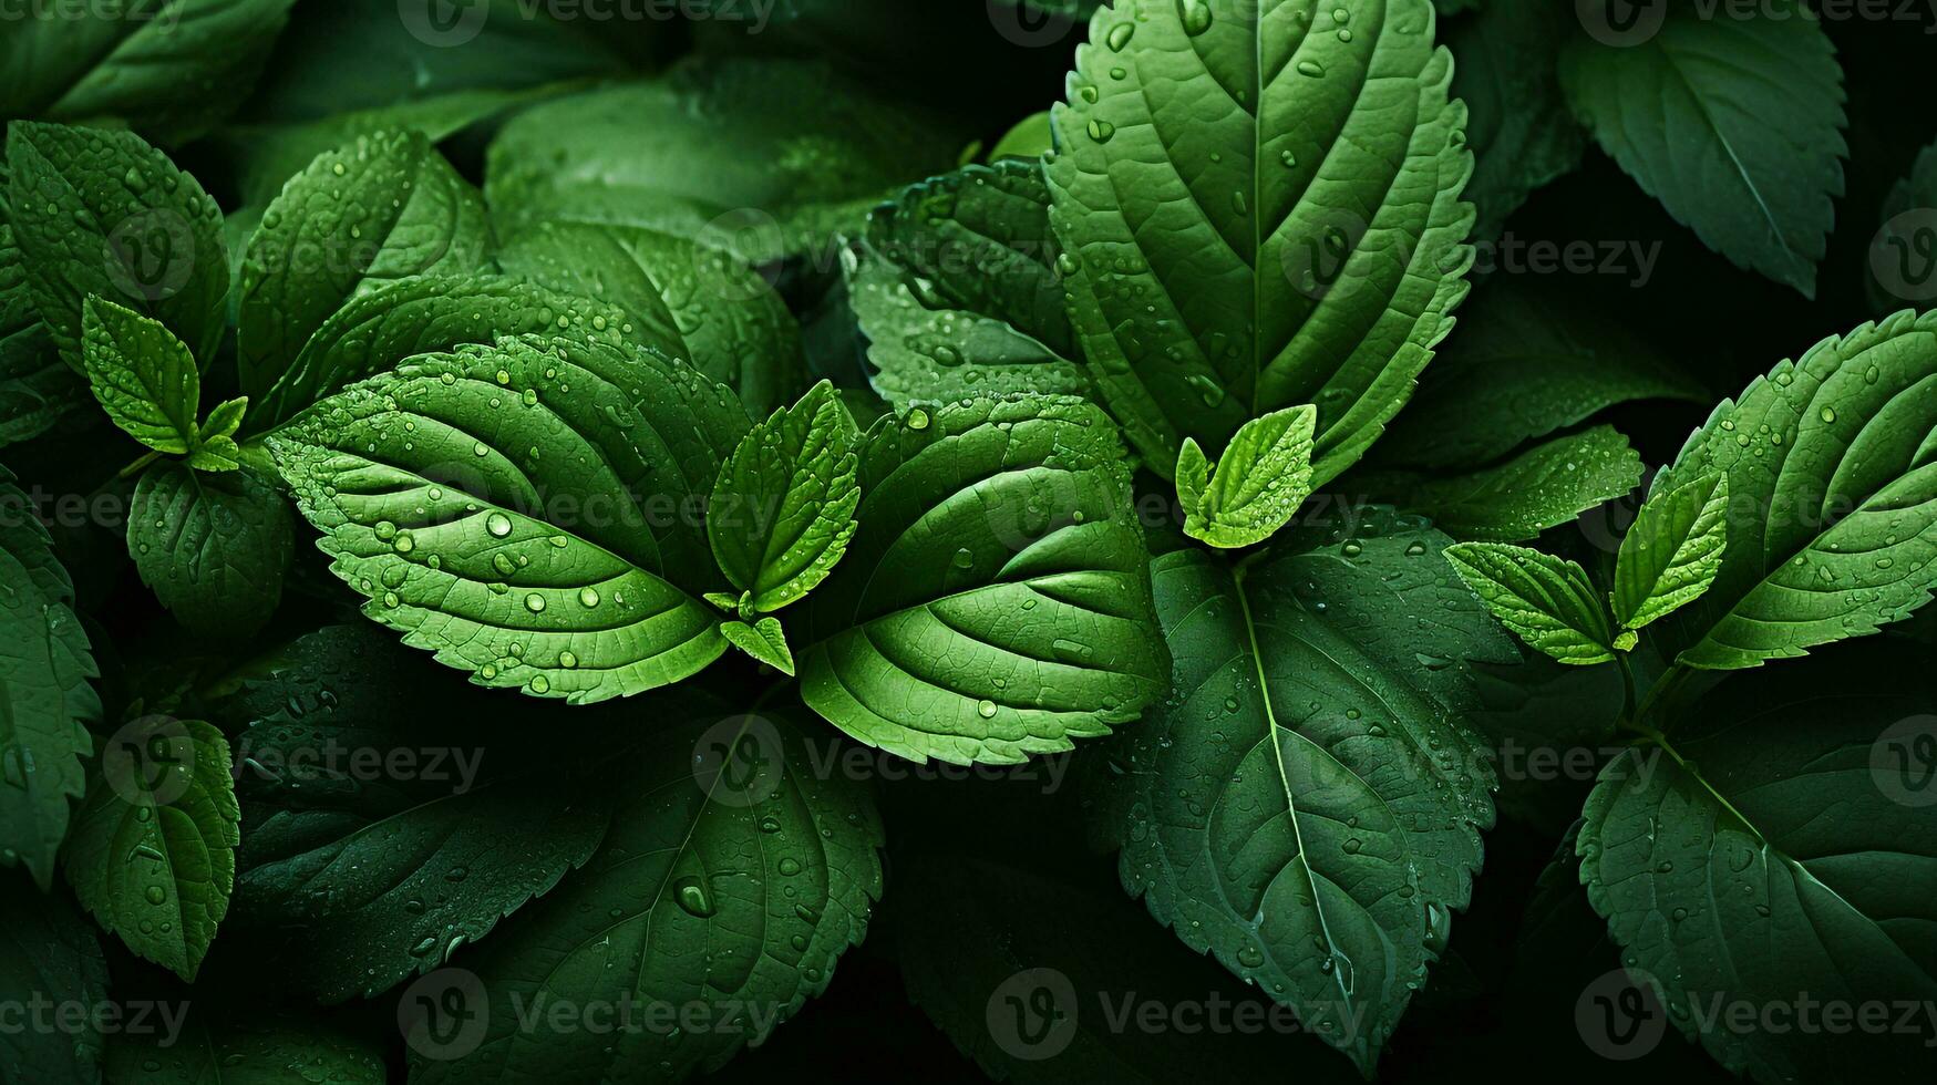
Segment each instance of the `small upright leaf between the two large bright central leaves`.
[{"label": "small upright leaf between the two large bright central leaves", "polygon": [[721,467],[707,537],[755,612],[798,603],[846,552],[860,504],[856,442],[854,418],[823,380],[753,426]]}]

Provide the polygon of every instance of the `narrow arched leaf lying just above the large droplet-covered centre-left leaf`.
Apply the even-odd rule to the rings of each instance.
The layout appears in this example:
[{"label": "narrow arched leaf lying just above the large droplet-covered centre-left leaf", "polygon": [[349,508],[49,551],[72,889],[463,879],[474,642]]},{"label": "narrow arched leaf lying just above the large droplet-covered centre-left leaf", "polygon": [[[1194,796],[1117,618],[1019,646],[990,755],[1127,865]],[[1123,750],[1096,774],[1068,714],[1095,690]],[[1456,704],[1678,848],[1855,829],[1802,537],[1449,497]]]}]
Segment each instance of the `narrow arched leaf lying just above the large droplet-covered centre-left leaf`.
[{"label": "narrow arched leaf lying just above the large droplet-covered centre-left leaf", "polygon": [[626,331],[626,310],[502,275],[420,275],[353,298],[316,329],[256,409],[256,426],[283,424],[318,399],[415,355],[500,335],[552,335],[587,345],[651,345]]}]

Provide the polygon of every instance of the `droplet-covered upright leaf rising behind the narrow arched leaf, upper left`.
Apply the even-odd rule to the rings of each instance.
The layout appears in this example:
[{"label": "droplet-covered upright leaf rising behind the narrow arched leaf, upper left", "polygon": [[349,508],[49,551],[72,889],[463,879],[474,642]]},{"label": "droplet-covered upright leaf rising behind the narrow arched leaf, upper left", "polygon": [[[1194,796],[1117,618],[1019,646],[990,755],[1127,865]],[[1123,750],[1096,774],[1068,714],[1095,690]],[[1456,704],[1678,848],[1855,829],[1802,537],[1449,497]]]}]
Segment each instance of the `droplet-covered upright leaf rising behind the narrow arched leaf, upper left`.
[{"label": "droplet-covered upright leaf rising behind the narrow arched leaf, upper left", "polygon": [[482,271],[484,198],[422,134],[382,132],[316,157],[269,203],[242,256],[236,368],[261,397],[354,296],[428,273]]}]

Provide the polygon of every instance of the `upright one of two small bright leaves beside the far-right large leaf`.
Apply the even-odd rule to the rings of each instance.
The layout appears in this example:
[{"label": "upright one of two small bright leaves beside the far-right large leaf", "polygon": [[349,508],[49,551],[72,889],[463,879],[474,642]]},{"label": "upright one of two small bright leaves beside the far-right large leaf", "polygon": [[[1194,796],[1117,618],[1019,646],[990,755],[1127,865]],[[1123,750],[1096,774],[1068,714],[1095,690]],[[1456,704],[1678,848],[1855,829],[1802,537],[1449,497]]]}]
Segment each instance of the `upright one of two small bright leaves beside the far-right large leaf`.
[{"label": "upright one of two small bright leaves beside the far-right large leaf", "polygon": [[1703,597],[1728,548],[1728,475],[1705,475],[1648,496],[1621,539],[1614,620],[1639,630]]}]

